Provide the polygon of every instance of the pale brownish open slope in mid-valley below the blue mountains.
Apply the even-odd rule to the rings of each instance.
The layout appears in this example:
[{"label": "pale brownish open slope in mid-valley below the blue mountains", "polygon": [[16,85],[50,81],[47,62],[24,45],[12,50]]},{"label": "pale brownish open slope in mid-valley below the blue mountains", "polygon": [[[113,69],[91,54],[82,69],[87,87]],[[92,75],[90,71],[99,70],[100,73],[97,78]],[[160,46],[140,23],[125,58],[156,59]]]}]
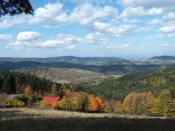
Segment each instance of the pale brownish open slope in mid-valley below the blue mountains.
[{"label": "pale brownish open slope in mid-valley below the blue mountains", "polygon": [[30,73],[56,82],[68,83],[87,82],[103,77],[102,74],[93,71],[71,68],[23,68],[16,71]]}]

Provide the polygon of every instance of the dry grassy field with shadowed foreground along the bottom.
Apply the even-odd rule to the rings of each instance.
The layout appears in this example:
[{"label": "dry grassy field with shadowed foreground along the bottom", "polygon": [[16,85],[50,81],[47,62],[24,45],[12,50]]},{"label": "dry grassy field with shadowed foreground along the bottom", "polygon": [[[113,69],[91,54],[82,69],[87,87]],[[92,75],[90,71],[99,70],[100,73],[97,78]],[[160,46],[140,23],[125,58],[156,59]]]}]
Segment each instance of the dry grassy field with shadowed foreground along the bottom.
[{"label": "dry grassy field with shadowed foreground along the bottom", "polygon": [[0,131],[174,131],[175,119],[34,109],[0,109]]}]

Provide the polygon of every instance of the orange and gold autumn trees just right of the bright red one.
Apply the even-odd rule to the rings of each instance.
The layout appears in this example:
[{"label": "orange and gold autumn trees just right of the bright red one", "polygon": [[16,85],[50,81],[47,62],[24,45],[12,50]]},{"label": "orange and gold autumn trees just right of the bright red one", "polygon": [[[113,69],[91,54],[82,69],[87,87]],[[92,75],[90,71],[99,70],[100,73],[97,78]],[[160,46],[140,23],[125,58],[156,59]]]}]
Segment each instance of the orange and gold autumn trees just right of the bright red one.
[{"label": "orange and gold autumn trees just right of the bright red one", "polygon": [[85,92],[66,92],[62,99],[48,103],[41,101],[41,108],[60,109],[67,111],[104,112],[105,99],[100,96],[90,95]]}]

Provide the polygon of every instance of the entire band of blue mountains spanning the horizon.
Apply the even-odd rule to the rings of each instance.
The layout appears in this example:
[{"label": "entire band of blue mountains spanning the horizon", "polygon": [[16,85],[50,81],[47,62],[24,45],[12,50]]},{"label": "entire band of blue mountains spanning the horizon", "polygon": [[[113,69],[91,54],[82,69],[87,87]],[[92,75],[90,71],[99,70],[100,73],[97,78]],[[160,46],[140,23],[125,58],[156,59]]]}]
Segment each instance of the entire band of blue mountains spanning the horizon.
[{"label": "entire band of blue mountains spanning the horizon", "polygon": [[146,61],[130,61],[116,57],[49,57],[13,58],[1,57],[0,69],[20,68],[75,68],[104,74],[127,74],[164,68],[175,63],[173,56],[152,57]]}]

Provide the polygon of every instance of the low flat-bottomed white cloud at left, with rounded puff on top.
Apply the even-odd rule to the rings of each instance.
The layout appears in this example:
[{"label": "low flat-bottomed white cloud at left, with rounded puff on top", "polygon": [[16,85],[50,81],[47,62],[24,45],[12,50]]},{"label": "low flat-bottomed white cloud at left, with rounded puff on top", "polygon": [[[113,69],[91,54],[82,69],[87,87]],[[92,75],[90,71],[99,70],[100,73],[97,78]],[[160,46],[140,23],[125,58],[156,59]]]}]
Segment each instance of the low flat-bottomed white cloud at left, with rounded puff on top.
[{"label": "low flat-bottomed white cloud at left, with rounded puff on top", "polygon": [[34,31],[20,32],[17,35],[16,42],[9,44],[9,48],[58,48],[64,47],[73,49],[81,41],[81,38],[73,35],[58,34],[56,37],[44,40],[41,34]]}]

